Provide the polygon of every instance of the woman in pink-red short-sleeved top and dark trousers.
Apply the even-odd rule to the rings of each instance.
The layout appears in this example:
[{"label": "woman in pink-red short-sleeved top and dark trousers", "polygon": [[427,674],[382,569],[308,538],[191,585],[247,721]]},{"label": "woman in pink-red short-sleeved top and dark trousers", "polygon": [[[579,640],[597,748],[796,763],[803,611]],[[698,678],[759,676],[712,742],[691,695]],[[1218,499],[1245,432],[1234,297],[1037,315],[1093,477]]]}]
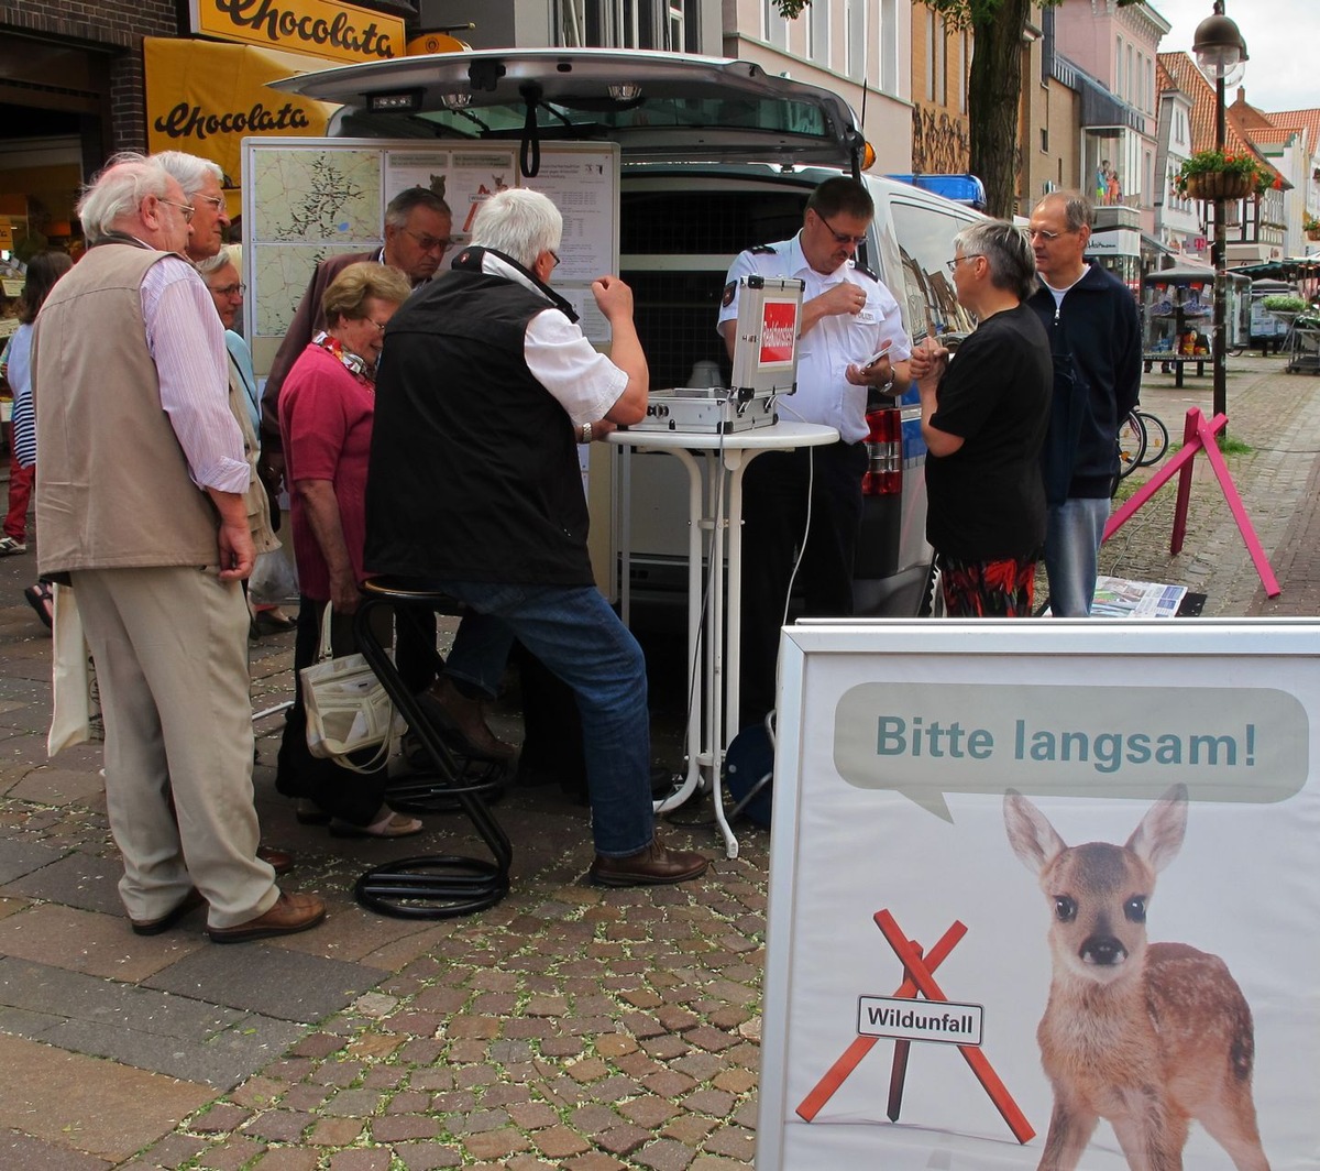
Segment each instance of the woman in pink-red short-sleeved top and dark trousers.
[{"label": "woman in pink-red short-sleeved top and dark trousers", "polygon": [[[280,389],[280,434],[298,565],[294,679],[318,653],[331,606],[337,655],[355,650],[352,614],[364,578],[367,455],[375,413],[376,362],[385,323],[412,286],[395,268],[359,261],[326,289],[326,327],[306,346]],[[330,822],[346,837],[404,837],[421,830],[384,801],[385,772],[363,775],[308,750],[306,710],[297,686],[276,766],[276,788],[298,799],[298,820]]]}]

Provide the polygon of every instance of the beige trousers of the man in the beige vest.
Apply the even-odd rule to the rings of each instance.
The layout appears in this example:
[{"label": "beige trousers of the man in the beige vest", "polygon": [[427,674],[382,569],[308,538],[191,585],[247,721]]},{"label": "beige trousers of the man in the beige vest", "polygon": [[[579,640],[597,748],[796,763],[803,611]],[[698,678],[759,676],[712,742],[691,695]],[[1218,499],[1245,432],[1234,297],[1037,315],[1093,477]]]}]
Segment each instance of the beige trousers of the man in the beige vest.
[{"label": "beige trousers of the man in the beige vest", "polygon": [[265,914],[280,892],[256,858],[239,584],[214,566],[170,566],[78,570],[73,585],[96,663],[106,803],[129,918],[166,915],[193,886],[211,927]]}]

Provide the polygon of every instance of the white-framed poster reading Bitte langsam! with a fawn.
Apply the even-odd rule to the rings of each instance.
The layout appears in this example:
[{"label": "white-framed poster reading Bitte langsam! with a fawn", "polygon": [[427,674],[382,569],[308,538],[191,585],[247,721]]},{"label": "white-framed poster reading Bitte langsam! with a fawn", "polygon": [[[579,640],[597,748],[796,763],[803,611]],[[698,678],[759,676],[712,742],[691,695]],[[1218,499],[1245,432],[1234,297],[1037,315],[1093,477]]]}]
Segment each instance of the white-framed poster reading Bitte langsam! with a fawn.
[{"label": "white-framed poster reading Bitte langsam! with a fawn", "polygon": [[1320,623],[784,631],[760,1171],[1320,1166]]}]

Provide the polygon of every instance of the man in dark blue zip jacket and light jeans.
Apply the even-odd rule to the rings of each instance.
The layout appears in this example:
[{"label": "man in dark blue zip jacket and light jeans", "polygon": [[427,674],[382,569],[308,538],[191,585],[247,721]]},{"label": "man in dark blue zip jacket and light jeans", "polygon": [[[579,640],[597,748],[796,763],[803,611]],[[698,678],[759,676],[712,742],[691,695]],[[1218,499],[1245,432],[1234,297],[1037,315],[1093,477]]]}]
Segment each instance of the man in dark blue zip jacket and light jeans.
[{"label": "man in dark blue zip jacket and light jeans", "polygon": [[1049,610],[1086,617],[1096,558],[1118,475],[1118,425],[1137,405],[1142,380],[1137,298],[1082,255],[1094,210],[1080,191],[1045,195],[1031,213],[1031,247],[1041,286],[1030,305],[1049,333],[1055,388],[1041,453],[1045,478],[1045,572]]}]

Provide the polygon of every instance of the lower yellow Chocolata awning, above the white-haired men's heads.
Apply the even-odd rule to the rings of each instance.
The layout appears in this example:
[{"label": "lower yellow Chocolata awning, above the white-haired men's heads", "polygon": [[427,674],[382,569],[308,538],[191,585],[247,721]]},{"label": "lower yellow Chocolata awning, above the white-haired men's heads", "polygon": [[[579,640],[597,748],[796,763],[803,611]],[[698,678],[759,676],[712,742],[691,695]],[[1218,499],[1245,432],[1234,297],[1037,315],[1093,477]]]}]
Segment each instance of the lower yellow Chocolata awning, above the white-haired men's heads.
[{"label": "lower yellow Chocolata awning, above the white-haired men's heads", "polygon": [[338,108],[267,87],[334,62],[279,49],[145,37],[147,147],[186,151],[224,172],[230,217],[240,211],[240,145],[248,135],[322,137]]}]

